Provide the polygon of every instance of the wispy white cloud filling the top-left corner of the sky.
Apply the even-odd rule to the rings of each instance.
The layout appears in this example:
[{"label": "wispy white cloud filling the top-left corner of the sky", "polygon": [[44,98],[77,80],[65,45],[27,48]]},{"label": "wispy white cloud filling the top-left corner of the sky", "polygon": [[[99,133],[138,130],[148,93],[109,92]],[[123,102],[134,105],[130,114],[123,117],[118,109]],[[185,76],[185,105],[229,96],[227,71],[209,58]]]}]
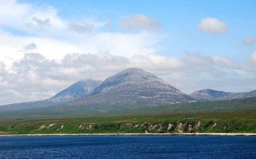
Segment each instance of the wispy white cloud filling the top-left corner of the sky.
[{"label": "wispy white cloud filling the top-left corner of the sky", "polygon": [[67,28],[67,22],[52,6],[36,6],[15,0],[0,2],[0,25],[37,35],[56,35]]}]

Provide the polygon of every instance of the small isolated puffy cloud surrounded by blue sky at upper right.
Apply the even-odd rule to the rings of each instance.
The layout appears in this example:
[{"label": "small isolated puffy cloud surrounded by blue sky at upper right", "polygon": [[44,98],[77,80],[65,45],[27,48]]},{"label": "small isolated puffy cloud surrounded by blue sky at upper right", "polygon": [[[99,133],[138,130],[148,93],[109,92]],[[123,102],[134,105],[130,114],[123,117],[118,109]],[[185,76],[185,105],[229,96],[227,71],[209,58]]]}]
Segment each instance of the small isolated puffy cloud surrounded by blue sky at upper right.
[{"label": "small isolated puffy cloud surrounded by blue sky at upper right", "polygon": [[228,31],[226,23],[217,18],[203,18],[198,24],[200,30],[212,33],[212,34],[222,34]]}]

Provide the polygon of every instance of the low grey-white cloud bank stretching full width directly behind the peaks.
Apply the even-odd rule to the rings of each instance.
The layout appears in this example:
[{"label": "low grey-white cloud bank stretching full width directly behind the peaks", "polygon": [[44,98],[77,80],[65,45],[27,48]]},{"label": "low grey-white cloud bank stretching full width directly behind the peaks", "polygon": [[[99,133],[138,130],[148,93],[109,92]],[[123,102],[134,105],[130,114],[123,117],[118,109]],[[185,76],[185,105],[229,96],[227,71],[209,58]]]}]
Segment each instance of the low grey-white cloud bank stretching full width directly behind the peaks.
[{"label": "low grey-white cloud bank stretching full width directly behind the peaks", "polygon": [[[250,74],[256,74],[255,67],[252,67],[256,65],[253,58],[254,54],[247,65],[240,65],[219,56],[204,57],[191,53],[182,59],[154,54],[126,58],[100,51],[97,54],[67,54],[58,61],[47,59],[42,54],[28,53],[13,62],[9,71],[4,62],[0,62],[1,101],[8,104],[46,99],[86,76],[103,81],[131,67],[150,70],[163,80],[170,79],[172,85],[188,93],[209,86],[209,81],[222,87],[225,83],[238,85],[243,79],[237,78],[237,74],[244,76],[248,86],[243,87],[249,90],[255,80]],[[234,90],[241,88],[238,85]]]}]

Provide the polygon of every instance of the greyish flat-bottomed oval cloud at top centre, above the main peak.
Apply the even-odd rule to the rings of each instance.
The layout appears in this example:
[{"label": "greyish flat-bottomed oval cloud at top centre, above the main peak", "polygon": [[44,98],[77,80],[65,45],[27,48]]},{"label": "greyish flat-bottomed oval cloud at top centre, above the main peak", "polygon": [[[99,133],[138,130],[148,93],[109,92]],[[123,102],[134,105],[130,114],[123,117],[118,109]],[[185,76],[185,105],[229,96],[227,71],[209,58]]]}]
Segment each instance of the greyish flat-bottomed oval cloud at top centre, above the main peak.
[{"label": "greyish flat-bottomed oval cloud at top centre, above the main peak", "polygon": [[128,30],[158,30],[161,24],[154,17],[147,17],[144,14],[133,14],[120,19],[120,26]]}]

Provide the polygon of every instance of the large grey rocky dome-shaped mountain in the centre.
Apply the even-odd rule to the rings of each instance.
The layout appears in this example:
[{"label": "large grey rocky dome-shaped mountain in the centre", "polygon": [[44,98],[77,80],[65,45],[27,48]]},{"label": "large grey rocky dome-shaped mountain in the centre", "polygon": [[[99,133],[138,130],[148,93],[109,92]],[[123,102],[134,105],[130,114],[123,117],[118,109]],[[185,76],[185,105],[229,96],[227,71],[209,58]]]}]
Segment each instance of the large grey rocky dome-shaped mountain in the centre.
[{"label": "large grey rocky dome-shaped mountain in the centre", "polygon": [[86,96],[58,105],[58,107],[82,105],[158,106],[197,100],[148,71],[126,69],[107,78]]}]

